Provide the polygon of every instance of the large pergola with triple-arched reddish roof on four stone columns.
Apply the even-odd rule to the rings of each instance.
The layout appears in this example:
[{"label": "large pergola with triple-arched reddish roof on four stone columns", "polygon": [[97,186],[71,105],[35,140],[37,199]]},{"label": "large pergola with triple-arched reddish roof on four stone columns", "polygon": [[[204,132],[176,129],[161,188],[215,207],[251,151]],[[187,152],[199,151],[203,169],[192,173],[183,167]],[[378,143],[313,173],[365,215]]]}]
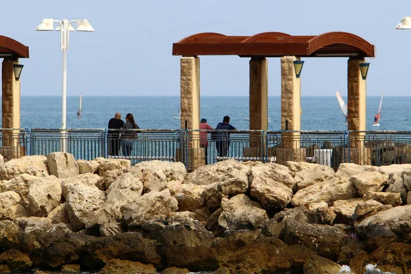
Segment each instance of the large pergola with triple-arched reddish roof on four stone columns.
[{"label": "large pergola with triple-arched reddish roof on four stone columns", "polygon": [[[282,32],[264,32],[253,36],[225,36],[201,33],[174,43],[173,55],[182,55],[180,59],[182,128],[199,128],[198,56],[238,55],[242,58],[251,58],[249,61],[249,129],[266,130],[268,126],[268,61],[266,60],[268,57],[281,58],[281,129],[293,131],[284,132],[284,137],[291,137],[292,140],[299,138],[301,79],[295,73],[294,62],[309,57],[348,58],[348,129],[357,131],[366,129],[366,79],[361,75],[360,64],[365,62],[366,57],[375,57],[375,46],[354,34],[328,32],[318,36],[291,36]],[[361,133],[358,134],[360,137]],[[292,140],[285,142],[284,149],[291,149],[295,153],[298,151],[297,154],[301,155],[298,142]],[[360,147],[358,149],[360,150]]]}]

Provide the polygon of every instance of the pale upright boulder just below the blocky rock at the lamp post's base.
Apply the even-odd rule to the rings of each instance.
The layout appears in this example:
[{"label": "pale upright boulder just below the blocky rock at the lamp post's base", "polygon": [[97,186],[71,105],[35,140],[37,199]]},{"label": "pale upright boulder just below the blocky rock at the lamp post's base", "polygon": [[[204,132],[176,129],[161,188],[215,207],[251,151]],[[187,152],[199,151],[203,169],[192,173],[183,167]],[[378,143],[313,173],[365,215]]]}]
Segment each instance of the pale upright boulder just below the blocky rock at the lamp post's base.
[{"label": "pale upright boulder just below the blocky rock at the lamp post's base", "polygon": [[29,210],[32,216],[45,217],[60,204],[62,187],[58,179],[51,175],[34,179],[29,183]]}]

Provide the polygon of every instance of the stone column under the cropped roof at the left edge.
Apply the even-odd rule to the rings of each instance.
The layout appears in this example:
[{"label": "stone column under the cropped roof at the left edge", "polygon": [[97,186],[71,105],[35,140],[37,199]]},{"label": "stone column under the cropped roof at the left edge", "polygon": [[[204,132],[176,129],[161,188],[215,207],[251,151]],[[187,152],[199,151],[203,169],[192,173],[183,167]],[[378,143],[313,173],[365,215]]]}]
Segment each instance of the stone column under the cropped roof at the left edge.
[{"label": "stone column under the cropped roof at the left edge", "polygon": [[[20,128],[20,81],[14,76],[14,64],[18,60],[5,58],[1,63],[2,103],[1,123],[5,128]],[[23,155],[18,130],[3,130],[1,154],[5,160]]]}]

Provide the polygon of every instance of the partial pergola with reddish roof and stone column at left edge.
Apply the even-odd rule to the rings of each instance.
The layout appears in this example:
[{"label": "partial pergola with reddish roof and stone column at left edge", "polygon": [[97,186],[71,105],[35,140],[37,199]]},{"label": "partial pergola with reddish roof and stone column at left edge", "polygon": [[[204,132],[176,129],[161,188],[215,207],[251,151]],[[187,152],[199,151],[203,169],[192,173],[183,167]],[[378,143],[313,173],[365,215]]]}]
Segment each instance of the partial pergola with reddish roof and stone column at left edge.
[{"label": "partial pergola with reddish roof and stone column at left edge", "polygon": [[[20,128],[20,69],[18,58],[29,58],[29,47],[7,36],[0,36],[1,63],[1,124],[3,129]],[[17,77],[16,77],[17,76]],[[18,130],[3,131],[1,154],[7,160],[21,156],[23,149],[18,145]]]}]

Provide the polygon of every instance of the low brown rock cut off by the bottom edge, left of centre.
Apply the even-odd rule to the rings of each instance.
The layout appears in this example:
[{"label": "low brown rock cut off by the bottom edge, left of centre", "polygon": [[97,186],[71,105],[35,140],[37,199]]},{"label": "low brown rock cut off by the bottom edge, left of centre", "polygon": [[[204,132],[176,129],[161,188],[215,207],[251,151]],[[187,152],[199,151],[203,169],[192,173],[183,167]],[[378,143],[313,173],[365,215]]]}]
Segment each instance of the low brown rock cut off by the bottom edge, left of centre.
[{"label": "low brown rock cut off by the bottom edge, left of centre", "polygon": [[142,264],[128,260],[114,259],[105,264],[99,274],[136,274],[136,273],[157,273],[157,269],[152,264]]}]

